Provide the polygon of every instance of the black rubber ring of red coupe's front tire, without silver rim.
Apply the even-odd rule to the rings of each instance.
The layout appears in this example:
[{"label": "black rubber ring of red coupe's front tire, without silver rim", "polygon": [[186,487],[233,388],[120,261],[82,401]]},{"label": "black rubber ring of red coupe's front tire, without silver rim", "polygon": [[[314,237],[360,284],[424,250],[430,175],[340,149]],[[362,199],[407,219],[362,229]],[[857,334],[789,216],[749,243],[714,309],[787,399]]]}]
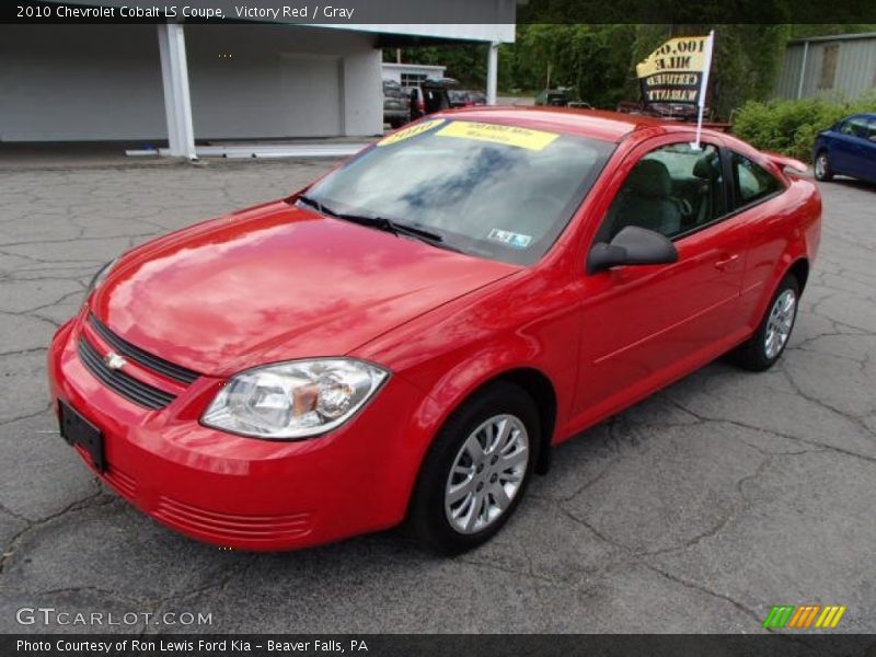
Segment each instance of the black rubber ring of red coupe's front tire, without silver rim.
[{"label": "black rubber ring of red coupe's front tire, without silver rim", "polygon": [[[504,414],[512,415],[526,427],[529,456],[523,479],[510,504],[492,523],[480,531],[462,533],[451,525],[445,508],[451,469],[472,433],[492,417]],[[407,516],[414,539],[428,550],[450,555],[472,550],[493,538],[514,515],[526,494],[540,443],[539,413],[532,397],[522,389],[499,381],[476,393],[453,412],[426,453]]]}]

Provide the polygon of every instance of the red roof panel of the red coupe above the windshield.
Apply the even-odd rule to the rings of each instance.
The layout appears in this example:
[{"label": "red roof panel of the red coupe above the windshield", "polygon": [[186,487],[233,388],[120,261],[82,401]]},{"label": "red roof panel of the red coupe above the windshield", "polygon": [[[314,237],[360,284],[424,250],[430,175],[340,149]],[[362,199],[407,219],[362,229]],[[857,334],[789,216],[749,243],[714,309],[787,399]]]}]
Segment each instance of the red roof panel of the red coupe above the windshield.
[{"label": "red roof panel of the red coupe above the windshield", "polygon": [[[681,132],[695,127],[690,123],[662,120],[648,116],[600,110],[570,110],[568,107],[479,106],[447,110],[433,116],[515,125],[613,142],[622,141],[629,135],[648,128],[661,132]],[[711,131],[703,130],[703,134],[711,134]]]}]

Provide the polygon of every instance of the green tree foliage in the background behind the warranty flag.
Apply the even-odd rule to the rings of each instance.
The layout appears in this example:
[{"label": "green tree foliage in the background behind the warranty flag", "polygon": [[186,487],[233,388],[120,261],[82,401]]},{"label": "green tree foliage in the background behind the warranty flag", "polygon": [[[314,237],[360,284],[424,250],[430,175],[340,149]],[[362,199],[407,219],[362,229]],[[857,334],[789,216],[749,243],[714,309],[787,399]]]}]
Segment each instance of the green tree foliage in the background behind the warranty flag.
[{"label": "green tree foliage in the background behind the warranty flag", "polygon": [[[556,7],[554,7],[556,10]],[[558,11],[558,10],[557,10]],[[865,32],[873,25],[766,24],[540,24],[517,25],[514,44],[499,48],[499,89],[538,93],[572,87],[595,107],[613,110],[619,101],[639,100],[635,65],[673,36],[715,30],[715,53],[707,94],[712,118],[727,120],[734,110],[770,96],[791,38]],[[482,89],[486,46],[407,48],[403,61],[447,66],[447,74],[466,88]],[[395,51],[384,53],[394,61]]]}]

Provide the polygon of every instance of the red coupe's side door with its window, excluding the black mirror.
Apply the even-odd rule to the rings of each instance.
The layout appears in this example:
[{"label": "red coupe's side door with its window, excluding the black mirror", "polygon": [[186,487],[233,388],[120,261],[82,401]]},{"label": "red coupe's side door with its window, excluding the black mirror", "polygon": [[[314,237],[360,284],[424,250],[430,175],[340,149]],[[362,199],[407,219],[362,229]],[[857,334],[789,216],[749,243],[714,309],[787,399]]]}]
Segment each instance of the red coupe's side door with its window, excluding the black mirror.
[{"label": "red coupe's side door with its window, excluding the black mirror", "polygon": [[636,224],[672,240],[678,261],[581,274],[587,278],[580,383],[573,411],[581,426],[705,364],[745,336],[738,299],[746,231],[741,220],[728,215],[722,143],[710,140],[698,151],[691,139],[662,137],[631,153],[635,164],[592,240],[609,241],[623,226]]}]

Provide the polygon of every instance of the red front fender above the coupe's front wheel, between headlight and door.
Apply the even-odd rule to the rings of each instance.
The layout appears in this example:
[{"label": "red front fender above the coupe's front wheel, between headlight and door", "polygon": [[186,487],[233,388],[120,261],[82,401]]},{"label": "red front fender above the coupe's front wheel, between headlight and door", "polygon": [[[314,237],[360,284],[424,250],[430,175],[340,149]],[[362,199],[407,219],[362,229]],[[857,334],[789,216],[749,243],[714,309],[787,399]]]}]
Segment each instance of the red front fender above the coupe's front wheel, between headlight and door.
[{"label": "red front fender above the coupe's front wheel, between headlight and door", "polygon": [[[527,297],[519,287],[516,291]],[[474,296],[480,301],[460,299],[450,304],[457,308],[445,307],[420,316],[356,354],[385,364],[394,377],[420,393],[388,470],[394,477],[405,477],[406,498],[448,417],[489,381],[525,369],[550,383],[556,408],[554,426],[561,426],[567,412],[569,400],[564,391],[574,390],[578,372],[580,311],[575,299],[561,293],[554,299],[556,306],[520,303],[509,308],[507,292],[481,290]],[[517,321],[508,319],[511,314]],[[446,348],[447,336],[452,335],[458,338]],[[566,348],[549,348],[556,344]]]}]

